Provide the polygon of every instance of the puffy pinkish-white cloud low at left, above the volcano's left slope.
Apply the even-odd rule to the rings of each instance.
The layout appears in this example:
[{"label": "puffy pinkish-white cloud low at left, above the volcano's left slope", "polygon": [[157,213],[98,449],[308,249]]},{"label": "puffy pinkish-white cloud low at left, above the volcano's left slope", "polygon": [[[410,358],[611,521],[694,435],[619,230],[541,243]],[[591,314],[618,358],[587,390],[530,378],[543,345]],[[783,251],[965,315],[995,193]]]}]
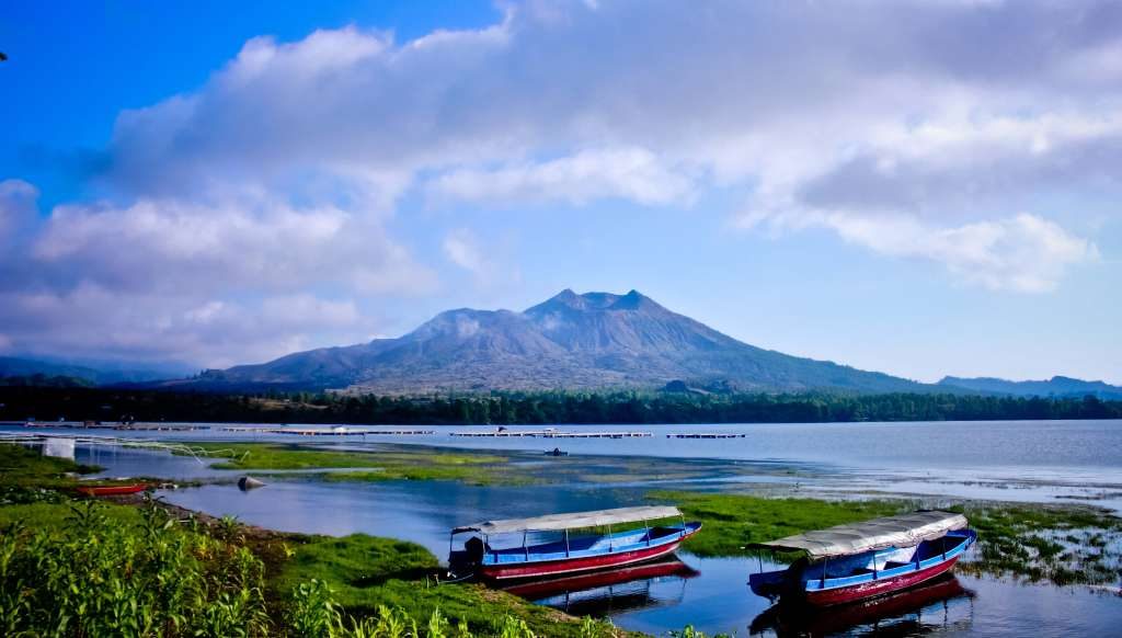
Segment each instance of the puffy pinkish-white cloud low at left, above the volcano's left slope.
[{"label": "puffy pinkish-white cloud low at left, above the volcano's left slope", "polygon": [[31,255],[46,275],[131,290],[294,290],[339,282],[392,291],[431,277],[377,219],[267,198],[62,206]]}]

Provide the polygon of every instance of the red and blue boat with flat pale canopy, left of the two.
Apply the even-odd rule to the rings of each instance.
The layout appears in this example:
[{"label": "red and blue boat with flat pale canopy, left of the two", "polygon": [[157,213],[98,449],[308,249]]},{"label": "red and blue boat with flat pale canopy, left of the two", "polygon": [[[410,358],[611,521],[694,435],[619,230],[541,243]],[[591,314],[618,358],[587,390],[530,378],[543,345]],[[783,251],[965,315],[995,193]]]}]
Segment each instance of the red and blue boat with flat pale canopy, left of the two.
[{"label": "red and blue boat with flat pale canopy, left of the two", "polygon": [[[680,522],[651,525],[671,518]],[[638,522],[643,527],[611,530]],[[606,528],[606,532],[579,532],[592,528]],[[449,543],[453,547],[457,535],[468,532],[471,538],[461,550],[450,547],[449,564],[458,574],[472,573],[487,581],[560,576],[654,560],[672,554],[699,529],[701,523],[686,522],[678,508],[657,505],[484,521],[452,530]],[[512,537],[521,543],[512,544]]]}]

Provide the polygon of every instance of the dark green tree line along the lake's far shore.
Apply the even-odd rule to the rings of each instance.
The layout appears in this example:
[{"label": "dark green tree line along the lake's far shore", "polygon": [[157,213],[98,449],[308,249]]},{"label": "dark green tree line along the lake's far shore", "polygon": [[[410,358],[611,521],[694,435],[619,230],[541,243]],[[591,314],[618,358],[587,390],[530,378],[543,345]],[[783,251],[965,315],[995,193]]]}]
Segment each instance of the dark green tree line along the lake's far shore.
[{"label": "dark green tree line along the lake's far shore", "polygon": [[1122,401],[962,394],[493,392],[385,397],[0,386],[0,420],[355,425],[737,423],[1120,419]]}]

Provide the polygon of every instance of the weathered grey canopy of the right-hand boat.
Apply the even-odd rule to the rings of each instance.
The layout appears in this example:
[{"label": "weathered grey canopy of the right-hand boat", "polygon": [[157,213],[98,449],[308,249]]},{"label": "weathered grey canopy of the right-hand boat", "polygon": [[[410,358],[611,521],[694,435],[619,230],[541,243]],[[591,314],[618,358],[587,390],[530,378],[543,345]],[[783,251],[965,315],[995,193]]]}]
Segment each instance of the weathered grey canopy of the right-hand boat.
[{"label": "weathered grey canopy of the right-hand boat", "polygon": [[941,538],[948,531],[963,529],[966,525],[966,517],[963,514],[919,511],[853,525],[839,525],[769,543],[754,543],[748,547],[783,552],[801,550],[811,558],[831,558],[888,547],[913,547],[925,540]]}]

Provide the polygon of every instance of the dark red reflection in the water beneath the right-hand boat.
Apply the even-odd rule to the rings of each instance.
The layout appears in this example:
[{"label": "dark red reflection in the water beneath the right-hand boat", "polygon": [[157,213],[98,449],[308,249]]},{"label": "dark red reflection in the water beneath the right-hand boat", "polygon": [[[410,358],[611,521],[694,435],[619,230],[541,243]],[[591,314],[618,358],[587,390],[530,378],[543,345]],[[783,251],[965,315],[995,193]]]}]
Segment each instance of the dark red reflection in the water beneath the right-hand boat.
[{"label": "dark red reflection in the water beneath the right-hand boat", "polygon": [[974,592],[946,576],[894,595],[828,608],[775,604],[757,616],[752,635],[922,636],[969,628]]}]

